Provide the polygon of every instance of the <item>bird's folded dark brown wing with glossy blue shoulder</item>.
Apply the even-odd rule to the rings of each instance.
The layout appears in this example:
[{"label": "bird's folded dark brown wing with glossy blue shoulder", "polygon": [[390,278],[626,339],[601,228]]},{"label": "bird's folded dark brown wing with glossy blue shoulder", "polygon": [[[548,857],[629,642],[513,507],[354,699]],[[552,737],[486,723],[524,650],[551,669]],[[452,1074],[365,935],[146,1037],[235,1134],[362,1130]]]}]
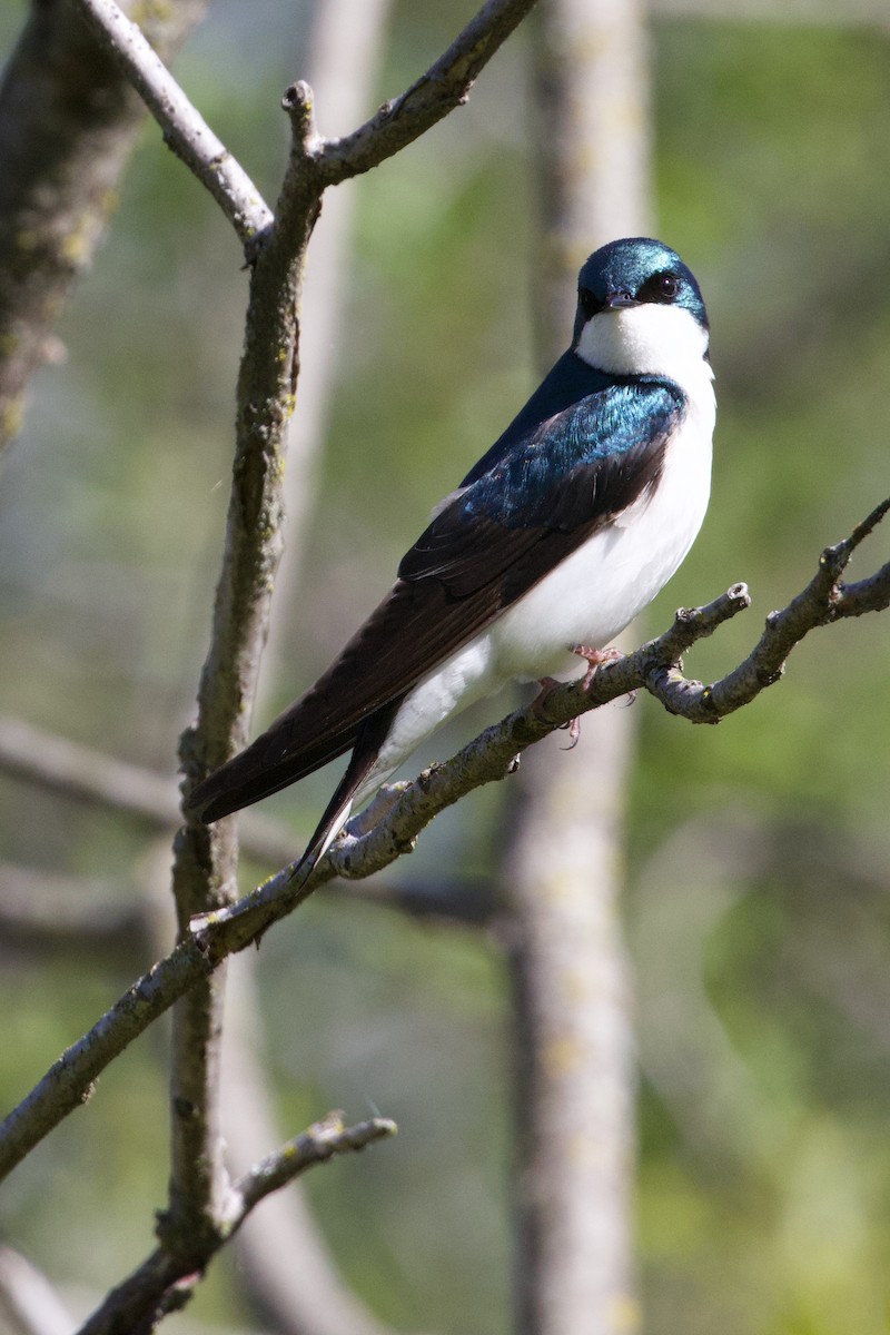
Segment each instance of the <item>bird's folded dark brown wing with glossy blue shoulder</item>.
[{"label": "bird's folded dark brown wing with glossy blue shoulder", "polygon": [[655,485],[682,413],[674,386],[610,384],[511,441],[482,475],[474,470],[340,657],[195,789],[192,809],[217,820],[354,746],[364,720],[398,708],[424,673]]}]

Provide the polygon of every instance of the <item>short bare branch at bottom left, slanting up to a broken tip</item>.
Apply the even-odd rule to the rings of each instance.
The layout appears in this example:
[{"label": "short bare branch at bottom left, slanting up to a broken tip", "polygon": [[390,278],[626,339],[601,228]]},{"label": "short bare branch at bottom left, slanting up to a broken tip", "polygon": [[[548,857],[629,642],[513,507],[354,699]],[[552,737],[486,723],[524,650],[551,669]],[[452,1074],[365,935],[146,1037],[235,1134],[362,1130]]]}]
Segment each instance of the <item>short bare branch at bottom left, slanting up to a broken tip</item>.
[{"label": "short bare branch at bottom left, slanting up to a broken tip", "polygon": [[[215,1254],[264,1196],[335,1155],[364,1149],[395,1132],[395,1123],[386,1117],[344,1127],[342,1113],[328,1113],[235,1183],[212,1234],[203,1231],[189,1239],[189,1246],[181,1251],[172,1252],[165,1247],[153,1251],[123,1284],[108,1294],[101,1307],[83,1323],[79,1335],[141,1335],[153,1330],[163,1316],[184,1307]],[[163,1220],[160,1228],[163,1232]]]}]

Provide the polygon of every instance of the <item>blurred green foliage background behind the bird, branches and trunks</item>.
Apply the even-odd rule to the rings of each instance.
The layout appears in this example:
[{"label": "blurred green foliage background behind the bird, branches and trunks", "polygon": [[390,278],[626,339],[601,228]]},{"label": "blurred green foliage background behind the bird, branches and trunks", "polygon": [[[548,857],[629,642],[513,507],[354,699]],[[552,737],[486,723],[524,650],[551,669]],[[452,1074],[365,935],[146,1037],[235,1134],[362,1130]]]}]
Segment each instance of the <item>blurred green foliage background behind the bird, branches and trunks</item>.
[{"label": "blurred green foliage background behind the bird, branches and trunks", "polygon": [[[364,113],[472,8],[395,3]],[[747,581],[753,610],[689,657],[705,681],[749,651],[822,547],[890,490],[886,15],[842,0],[721,8],[655,4],[647,23],[654,230],[707,300],[718,431],[702,535],[634,635]],[[0,9],[4,49],[24,9]],[[278,104],[306,72],[310,19],[287,0],[213,0],[176,64],[270,200],[287,155]],[[256,725],[327,665],[431,506],[536,383],[534,40],[524,25],[467,107],[340,187],[354,235],[344,318],[324,350],[327,441]],[[319,105],[319,120],[351,128],[335,107]],[[221,551],[240,264],[216,206],[147,125],[59,328],[65,358],[33,379],[0,478],[3,714],[169,776],[171,790]],[[853,578],[889,554],[878,534]],[[869,617],[807,639],[786,680],[719,728],[694,729],[648,698],[632,706],[623,912],[651,1335],[887,1328],[889,655],[890,619]],[[467,716],[418,765],[490,717]],[[447,868],[455,884],[484,885],[507,788],[446,813],[391,881],[423,889]],[[267,804],[295,853],[330,789],[322,774]],[[56,905],[49,925],[64,925],[73,894],[108,926],[111,906],[123,913],[148,882],[163,893],[168,854],[140,821],[9,773],[0,808],[8,898],[31,896],[27,870]],[[244,888],[259,874],[248,862]],[[29,936],[11,924],[4,936],[8,1107],[144,969],[148,947],[127,930]],[[259,964],[286,1133],[330,1107],[400,1127],[307,1180],[346,1282],[392,1328],[506,1335],[512,1113],[496,930],[320,893],[270,933]],[[156,1027],[5,1184],[4,1238],[73,1310],[151,1246],[164,1081]],[[235,1256],[220,1260],[167,1328],[274,1330],[239,1279]]]}]

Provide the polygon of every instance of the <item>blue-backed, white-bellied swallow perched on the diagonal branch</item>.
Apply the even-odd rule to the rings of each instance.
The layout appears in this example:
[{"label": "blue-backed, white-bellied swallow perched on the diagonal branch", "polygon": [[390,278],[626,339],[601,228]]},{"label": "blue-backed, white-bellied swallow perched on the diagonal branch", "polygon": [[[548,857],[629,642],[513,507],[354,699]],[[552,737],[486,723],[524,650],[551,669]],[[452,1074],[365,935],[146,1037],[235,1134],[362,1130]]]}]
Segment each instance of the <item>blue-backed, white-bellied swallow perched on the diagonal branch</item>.
[{"label": "blue-backed, white-bellied swallow perched on the diagonal branch", "polygon": [[352,750],[308,874],[446,718],[511,678],[571,680],[655,597],[705,518],[714,431],[709,324],[660,242],[595,251],[571,347],[436,506],[339,658],[244,752],[199,784],[211,822]]}]

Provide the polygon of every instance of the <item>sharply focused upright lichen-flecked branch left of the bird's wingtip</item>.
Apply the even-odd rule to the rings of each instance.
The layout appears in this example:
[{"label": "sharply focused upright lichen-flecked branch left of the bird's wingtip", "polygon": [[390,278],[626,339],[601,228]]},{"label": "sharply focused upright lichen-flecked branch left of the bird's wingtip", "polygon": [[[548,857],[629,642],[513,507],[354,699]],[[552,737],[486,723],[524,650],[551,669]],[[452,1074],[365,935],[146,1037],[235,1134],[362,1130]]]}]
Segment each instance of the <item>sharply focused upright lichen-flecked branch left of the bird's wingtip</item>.
[{"label": "sharply focused upright lichen-flecked branch left of the bird's wingtip", "polygon": [[[287,422],[298,375],[298,311],[306,248],[320,208],[314,171],[315,125],[306,85],[290,91],[294,144],[278,223],[251,278],[238,383],[236,447],[223,570],[211,647],[201,673],[197,721],[183,734],[185,790],[247,741],[250,710],[280,557]],[[234,818],[189,824],[175,845],[173,896],[180,937],[188,920],[231,901],[236,889]],[[163,1242],[173,1252],[217,1231],[228,1179],[219,1123],[223,969],[177,1004],[171,1076],[172,1164]]]}]

